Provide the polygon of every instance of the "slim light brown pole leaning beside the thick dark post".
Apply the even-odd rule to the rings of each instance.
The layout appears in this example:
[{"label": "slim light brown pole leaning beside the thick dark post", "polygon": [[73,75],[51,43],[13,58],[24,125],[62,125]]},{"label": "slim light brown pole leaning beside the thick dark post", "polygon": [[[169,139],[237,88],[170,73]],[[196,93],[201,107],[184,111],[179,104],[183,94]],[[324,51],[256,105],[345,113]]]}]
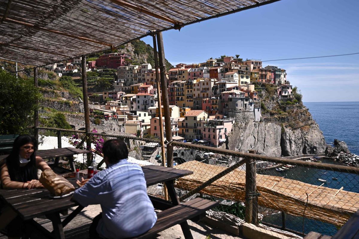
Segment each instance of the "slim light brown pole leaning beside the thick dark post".
[{"label": "slim light brown pole leaning beside the thick dark post", "polygon": [[[164,151],[164,133],[163,133],[163,120],[162,120],[162,103],[161,103],[161,90],[160,90],[160,78],[158,74],[158,59],[157,59],[157,42],[156,42],[156,36],[153,35],[153,52],[154,52],[154,58],[155,58],[155,69],[156,69],[156,79],[155,82],[157,82],[157,99],[158,99],[158,118],[159,118],[159,131],[160,131],[160,140],[161,140],[161,155],[162,155],[162,166],[166,166],[166,154]],[[163,185],[163,194],[164,199],[168,200],[168,194],[167,194],[167,187],[164,184]]]}]

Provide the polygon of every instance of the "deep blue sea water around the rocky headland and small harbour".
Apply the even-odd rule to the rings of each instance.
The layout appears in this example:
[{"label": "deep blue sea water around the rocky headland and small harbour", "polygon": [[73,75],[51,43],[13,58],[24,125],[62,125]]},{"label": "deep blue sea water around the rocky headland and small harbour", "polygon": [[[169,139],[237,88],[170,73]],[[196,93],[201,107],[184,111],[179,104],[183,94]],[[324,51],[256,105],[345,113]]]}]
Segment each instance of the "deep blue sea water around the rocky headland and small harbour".
[{"label": "deep blue sea water around the rocky headland and small harbour", "polygon": [[[304,105],[309,109],[323,132],[327,144],[334,139],[345,141],[351,153],[359,155],[359,102],[307,102]],[[333,160],[322,160],[323,163],[340,164]],[[275,169],[260,172],[266,175],[284,176],[288,179],[299,180],[313,185],[322,184],[318,178],[327,180],[323,187],[359,193],[359,175],[308,169],[296,167],[285,172]],[[337,178],[333,180],[332,178]],[[265,216],[264,222],[281,226],[281,214]],[[303,217],[286,215],[286,227],[295,231],[303,231]],[[326,235],[334,235],[337,228],[334,225],[304,218],[304,233],[317,231]]]}]

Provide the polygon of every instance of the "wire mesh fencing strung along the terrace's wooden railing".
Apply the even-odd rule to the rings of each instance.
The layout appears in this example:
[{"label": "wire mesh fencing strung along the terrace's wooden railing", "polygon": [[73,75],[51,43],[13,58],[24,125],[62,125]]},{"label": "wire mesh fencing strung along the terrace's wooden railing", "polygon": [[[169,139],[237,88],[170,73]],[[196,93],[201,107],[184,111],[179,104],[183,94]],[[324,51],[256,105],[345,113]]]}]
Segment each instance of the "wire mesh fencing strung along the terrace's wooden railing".
[{"label": "wire mesh fencing strung along the terrace's wooden railing", "polygon": [[[75,147],[86,137],[81,130],[38,129],[39,141],[43,140],[40,150],[42,146],[47,147],[43,149],[58,147],[59,130],[61,147]],[[49,132],[57,133],[46,135]],[[103,140],[122,138],[130,151],[129,161],[162,165],[158,140],[97,132],[87,135]],[[66,141],[69,144],[65,144]],[[251,222],[297,235],[309,231],[334,235],[359,209],[359,169],[344,166],[332,158],[304,155],[302,160],[295,160],[193,143],[174,141],[171,144],[174,167],[194,172],[176,181],[181,201],[195,197],[219,201],[220,205],[208,214],[212,217],[230,215],[230,221],[237,226]],[[96,143],[92,142],[94,157],[100,164],[101,153],[95,149]],[[84,158],[77,161],[87,166]],[[164,198],[163,185],[149,187],[148,193]]]}]

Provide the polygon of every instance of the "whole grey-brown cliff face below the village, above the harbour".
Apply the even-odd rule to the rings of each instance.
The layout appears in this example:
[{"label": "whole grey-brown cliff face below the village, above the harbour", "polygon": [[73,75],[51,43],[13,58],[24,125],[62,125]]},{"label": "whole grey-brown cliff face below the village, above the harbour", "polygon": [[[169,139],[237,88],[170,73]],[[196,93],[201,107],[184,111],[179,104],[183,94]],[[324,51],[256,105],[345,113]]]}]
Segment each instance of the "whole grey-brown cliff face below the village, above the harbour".
[{"label": "whole grey-brown cliff face below the village, above the harbour", "polygon": [[[257,150],[258,154],[279,157],[324,153],[327,147],[322,131],[315,121],[300,124],[299,128],[285,127],[285,122],[255,122],[250,112],[236,113],[229,149],[241,152]],[[311,115],[309,114],[311,117]],[[304,121],[304,120],[303,120]]]}]

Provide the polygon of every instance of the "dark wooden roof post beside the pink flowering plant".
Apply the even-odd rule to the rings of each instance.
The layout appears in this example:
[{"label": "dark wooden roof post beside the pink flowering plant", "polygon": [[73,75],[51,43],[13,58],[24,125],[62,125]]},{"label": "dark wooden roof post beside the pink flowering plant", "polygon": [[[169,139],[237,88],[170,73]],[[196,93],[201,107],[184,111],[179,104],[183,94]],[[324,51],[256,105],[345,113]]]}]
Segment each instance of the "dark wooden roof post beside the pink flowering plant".
[{"label": "dark wooden roof post beside the pink flowering plant", "polygon": [[[91,149],[91,139],[88,132],[90,132],[90,110],[89,100],[87,95],[87,77],[86,77],[86,56],[81,56],[81,73],[82,73],[82,93],[84,96],[84,115],[85,115],[85,131],[86,131],[86,149]],[[91,164],[91,153],[87,154],[87,165]]]}]

